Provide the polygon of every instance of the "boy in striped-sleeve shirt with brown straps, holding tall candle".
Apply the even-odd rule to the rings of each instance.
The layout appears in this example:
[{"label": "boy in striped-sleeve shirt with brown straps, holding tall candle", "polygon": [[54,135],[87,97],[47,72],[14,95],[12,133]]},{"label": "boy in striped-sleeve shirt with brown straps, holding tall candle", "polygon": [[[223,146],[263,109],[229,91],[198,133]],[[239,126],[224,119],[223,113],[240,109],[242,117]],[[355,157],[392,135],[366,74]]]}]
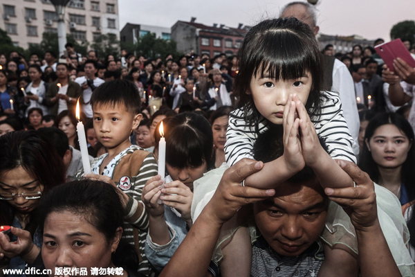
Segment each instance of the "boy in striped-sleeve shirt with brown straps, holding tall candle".
[{"label": "boy in striped-sleeve shirt with brown straps, holding tall candle", "polygon": [[[149,263],[144,251],[139,250],[144,247],[148,227],[148,215],[140,197],[145,182],[157,175],[158,167],[153,154],[129,141],[131,130],[138,127],[142,118],[140,96],[132,82],[113,80],[93,91],[91,105],[95,134],[108,153],[93,159],[92,174],[84,177],[107,181],[123,193],[127,221],[123,235],[136,245],[141,258],[139,271],[148,275]],[[82,175],[80,170],[77,179]]]}]

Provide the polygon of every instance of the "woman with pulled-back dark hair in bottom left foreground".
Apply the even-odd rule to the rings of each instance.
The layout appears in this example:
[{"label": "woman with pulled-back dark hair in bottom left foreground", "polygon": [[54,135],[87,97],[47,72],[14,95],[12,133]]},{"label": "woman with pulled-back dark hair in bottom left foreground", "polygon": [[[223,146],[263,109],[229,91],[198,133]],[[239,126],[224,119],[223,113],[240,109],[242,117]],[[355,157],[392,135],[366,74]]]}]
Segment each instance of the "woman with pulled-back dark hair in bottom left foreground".
[{"label": "woman with pulled-back dark hair in bottom left foreground", "polygon": [[[124,206],[116,188],[102,181],[86,179],[57,186],[39,207],[42,251],[30,239],[24,240],[24,231],[19,232],[24,240],[19,250],[25,253],[34,248],[26,260],[39,269],[50,269],[50,276],[59,275],[59,267],[86,268],[86,276],[98,272],[142,276],[137,272],[138,255],[121,238]],[[97,268],[95,274],[93,268]]]}]

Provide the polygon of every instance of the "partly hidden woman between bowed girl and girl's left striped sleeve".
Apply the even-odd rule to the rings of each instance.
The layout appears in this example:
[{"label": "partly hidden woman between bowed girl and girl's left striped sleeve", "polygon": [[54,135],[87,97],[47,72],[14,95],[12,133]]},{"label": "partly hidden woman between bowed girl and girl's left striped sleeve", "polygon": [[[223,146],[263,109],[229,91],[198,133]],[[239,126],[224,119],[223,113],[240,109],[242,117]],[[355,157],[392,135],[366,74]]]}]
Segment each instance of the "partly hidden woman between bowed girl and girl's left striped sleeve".
[{"label": "partly hidden woman between bowed girl and girl's left striped sleeve", "polygon": [[222,106],[212,112],[210,124],[213,132],[214,167],[219,168],[225,163],[226,130],[228,129],[229,114],[232,107]]}]

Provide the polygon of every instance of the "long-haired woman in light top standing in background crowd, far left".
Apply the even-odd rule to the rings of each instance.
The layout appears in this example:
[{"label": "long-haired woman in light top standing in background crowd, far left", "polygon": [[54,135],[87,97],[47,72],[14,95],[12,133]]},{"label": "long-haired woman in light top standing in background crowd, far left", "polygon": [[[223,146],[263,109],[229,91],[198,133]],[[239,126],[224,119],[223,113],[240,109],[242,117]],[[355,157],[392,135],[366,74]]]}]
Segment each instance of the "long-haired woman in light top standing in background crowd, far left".
[{"label": "long-haired woman in light top standing in background crowd, far left", "polygon": [[42,80],[42,69],[37,64],[29,66],[30,84],[26,87],[24,100],[30,108],[40,108],[43,111],[44,116],[49,114],[48,107],[44,105],[44,99],[46,91],[48,90],[48,84]]}]

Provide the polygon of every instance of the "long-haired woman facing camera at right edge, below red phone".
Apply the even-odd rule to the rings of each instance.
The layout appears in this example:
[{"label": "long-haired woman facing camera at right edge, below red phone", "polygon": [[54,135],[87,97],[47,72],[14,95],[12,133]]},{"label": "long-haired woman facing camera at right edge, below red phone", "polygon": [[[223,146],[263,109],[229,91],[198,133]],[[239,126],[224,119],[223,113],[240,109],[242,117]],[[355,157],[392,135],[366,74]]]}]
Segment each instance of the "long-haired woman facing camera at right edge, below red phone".
[{"label": "long-haired woman facing camera at right edge, below red phone", "polygon": [[400,204],[415,199],[414,131],[402,116],[378,114],[367,125],[360,168],[389,189]]}]

